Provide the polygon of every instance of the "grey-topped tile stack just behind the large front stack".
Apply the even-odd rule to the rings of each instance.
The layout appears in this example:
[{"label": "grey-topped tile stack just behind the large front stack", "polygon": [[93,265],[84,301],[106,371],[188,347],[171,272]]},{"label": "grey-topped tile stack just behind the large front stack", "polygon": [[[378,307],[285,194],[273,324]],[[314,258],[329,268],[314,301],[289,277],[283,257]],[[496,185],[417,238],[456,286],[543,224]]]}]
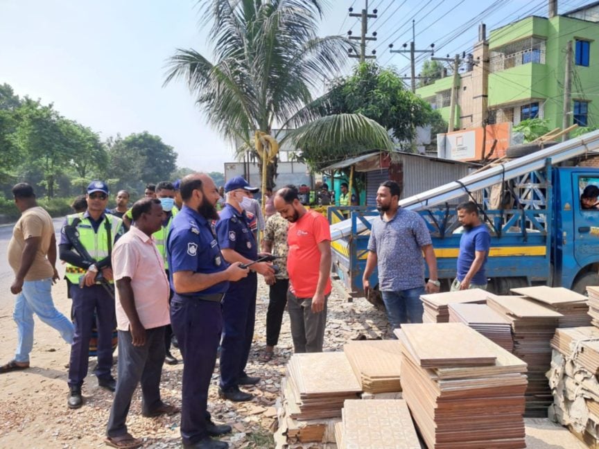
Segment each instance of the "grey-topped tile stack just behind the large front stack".
[{"label": "grey-topped tile stack just behind the large front stack", "polygon": [[486,304],[449,304],[449,322],[464,323],[506,351],[514,350],[512,324]]}]

